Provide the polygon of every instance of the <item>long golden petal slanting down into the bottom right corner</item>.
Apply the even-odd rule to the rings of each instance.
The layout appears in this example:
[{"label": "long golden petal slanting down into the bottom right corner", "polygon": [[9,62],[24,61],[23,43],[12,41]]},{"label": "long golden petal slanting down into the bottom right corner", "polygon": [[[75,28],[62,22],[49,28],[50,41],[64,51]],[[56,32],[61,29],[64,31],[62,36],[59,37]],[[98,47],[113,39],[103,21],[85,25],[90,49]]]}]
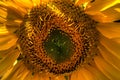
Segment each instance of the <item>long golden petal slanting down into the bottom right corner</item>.
[{"label": "long golden petal slanting down into the bottom right corner", "polygon": [[96,56],[94,60],[98,69],[110,80],[120,80],[120,71],[118,69],[106,62],[101,56]]}]

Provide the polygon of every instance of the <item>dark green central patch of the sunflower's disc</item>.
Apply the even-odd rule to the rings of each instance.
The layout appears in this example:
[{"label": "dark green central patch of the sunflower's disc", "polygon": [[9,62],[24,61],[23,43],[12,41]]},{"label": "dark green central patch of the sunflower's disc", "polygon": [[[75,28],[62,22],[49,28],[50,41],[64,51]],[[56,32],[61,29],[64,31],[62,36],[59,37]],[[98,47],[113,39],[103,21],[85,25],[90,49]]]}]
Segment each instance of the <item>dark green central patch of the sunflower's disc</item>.
[{"label": "dark green central patch of the sunflower's disc", "polygon": [[56,63],[69,60],[74,52],[70,36],[61,30],[52,30],[43,44],[47,55]]}]

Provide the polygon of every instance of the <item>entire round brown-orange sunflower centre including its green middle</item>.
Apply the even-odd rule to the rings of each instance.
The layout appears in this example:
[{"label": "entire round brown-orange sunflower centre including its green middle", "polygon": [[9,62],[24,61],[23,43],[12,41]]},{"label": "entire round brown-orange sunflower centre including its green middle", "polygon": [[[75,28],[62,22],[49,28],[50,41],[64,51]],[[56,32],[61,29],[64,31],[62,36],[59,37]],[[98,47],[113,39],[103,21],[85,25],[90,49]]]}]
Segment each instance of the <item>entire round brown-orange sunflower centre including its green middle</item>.
[{"label": "entire round brown-orange sunflower centre including its green middle", "polygon": [[22,60],[33,72],[69,73],[97,53],[96,21],[72,2],[33,7],[18,32]]}]

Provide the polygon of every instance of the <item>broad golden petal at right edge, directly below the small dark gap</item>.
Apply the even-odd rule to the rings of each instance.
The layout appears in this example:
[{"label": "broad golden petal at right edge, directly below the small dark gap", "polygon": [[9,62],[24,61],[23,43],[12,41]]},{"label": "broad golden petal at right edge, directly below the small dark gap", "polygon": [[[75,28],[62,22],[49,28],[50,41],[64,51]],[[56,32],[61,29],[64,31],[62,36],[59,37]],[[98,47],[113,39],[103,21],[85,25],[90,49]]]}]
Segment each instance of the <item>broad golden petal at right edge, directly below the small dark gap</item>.
[{"label": "broad golden petal at right edge, directly below the small dark gap", "polygon": [[98,24],[97,29],[107,38],[120,37],[120,23],[100,23]]}]

